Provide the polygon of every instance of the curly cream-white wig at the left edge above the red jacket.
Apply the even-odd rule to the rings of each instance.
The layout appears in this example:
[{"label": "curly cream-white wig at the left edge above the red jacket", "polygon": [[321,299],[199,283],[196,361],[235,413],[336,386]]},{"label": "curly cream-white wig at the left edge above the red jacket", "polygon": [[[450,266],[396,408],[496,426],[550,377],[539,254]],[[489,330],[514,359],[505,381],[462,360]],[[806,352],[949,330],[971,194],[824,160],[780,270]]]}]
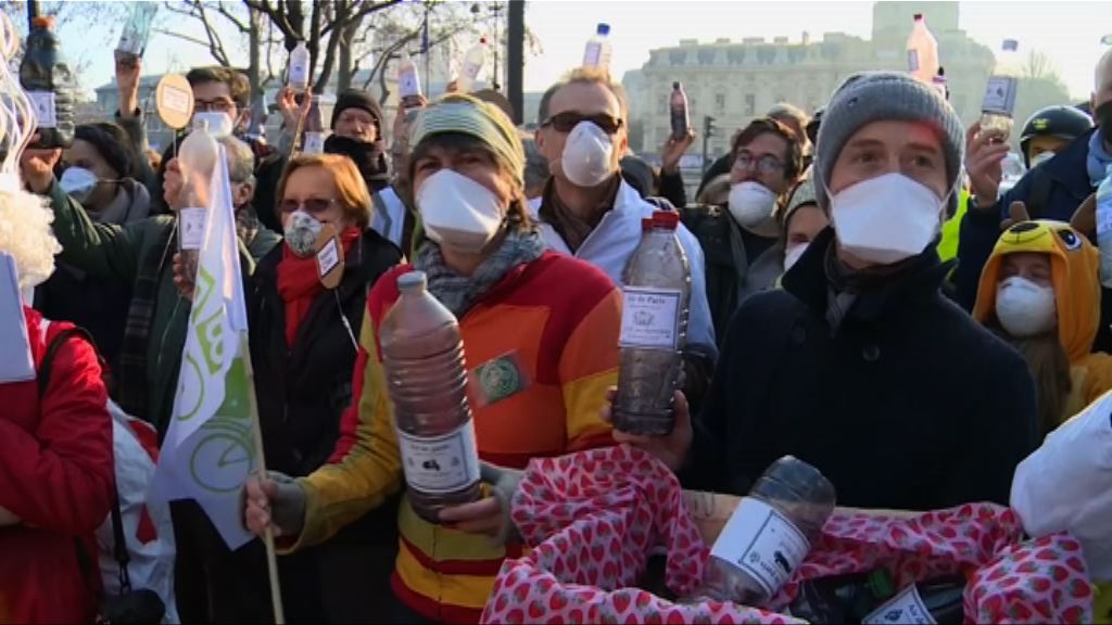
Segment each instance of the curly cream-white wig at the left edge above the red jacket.
[{"label": "curly cream-white wig at the left edge above the red jacket", "polygon": [[50,222],[47,200],[27,191],[0,190],[0,251],[16,259],[19,288],[41,285],[54,272],[54,255],[62,250]]}]

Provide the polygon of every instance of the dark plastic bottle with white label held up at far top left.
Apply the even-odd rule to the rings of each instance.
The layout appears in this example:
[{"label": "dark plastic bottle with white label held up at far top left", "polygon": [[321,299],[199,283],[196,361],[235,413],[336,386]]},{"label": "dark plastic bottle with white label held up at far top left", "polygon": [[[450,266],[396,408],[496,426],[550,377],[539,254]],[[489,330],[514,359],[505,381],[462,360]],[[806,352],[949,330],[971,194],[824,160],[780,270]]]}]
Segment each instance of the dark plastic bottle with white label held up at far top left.
[{"label": "dark plastic bottle with white label held up at far top left", "polygon": [[39,118],[32,148],[68,148],[73,141],[73,73],[54,34],[53,18],[34,18],[19,82]]}]

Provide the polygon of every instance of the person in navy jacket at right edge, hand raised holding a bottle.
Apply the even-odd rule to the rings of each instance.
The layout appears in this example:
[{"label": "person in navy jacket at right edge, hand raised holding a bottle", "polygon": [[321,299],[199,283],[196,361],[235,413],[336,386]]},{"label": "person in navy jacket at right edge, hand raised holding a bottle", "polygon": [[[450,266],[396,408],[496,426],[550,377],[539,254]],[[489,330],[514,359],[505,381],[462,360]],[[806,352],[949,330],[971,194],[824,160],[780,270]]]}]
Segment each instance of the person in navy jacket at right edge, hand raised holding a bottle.
[{"label": "person in navy jacket at right edge, hand raised holding a bottle", "polygon": [[[965,168],[972,182],[969,215],[962,222],[956,286],[957,302],[972,309],[981,270],[1000,238],[1000,222],[1009,216],[1012,202],[1022,201],[1034,219],[1069,221],[1078,206],[1092,195],[1104,179],[1104,168],[1112,163],[1112,49],[1096,63],[1095,83],[1090,97],[1098,127],[1081,135],[1043,167],[1027,172],[1003,196],[1000,195],[1001,162],[1007,156],[1005,143],[993,143],[974,125],[966,135]],[[1039,185],[1035,185],[1035,182]],[[1106,302],[1103,300],[1108,300]],[[1102,298],[1101,330],[1096,347],[1112,349],[1112,297]]]}]

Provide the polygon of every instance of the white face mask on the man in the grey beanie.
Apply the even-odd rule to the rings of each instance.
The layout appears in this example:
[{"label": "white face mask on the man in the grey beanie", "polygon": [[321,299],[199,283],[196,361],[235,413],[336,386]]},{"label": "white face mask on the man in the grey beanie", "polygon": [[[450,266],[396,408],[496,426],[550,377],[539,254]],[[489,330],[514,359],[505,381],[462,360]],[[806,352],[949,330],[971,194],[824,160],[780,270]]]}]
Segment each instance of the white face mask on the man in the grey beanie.
[{"label": "white face mask on the man in the grey beanie", "polygon": [[942,227],[944,204],[915,180],[885,173],[832,195],[831,221],[845,251],[868,262],[892,265],[931,245]]}]

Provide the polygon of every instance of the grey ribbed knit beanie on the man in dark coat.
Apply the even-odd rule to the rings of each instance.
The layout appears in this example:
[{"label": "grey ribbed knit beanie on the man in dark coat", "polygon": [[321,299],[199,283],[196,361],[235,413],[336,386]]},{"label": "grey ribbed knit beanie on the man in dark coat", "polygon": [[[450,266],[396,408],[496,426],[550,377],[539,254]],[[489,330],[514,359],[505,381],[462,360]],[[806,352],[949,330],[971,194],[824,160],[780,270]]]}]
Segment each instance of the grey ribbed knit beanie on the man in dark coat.
[{"label": "grey ribbed knit beanie on the man in dark coat", "polygon": [[[946,158],[946,185],[954,188],[965,156],[965,129],[950,102],[933,87],[906,73],[866,71],[847,78],[823,112],[814,168],[820,207],[830,208],[826,188],[845,142],[865,125],[888,120],[924,121],[939,129]],[[957,194],[951,192],[947,206],[951,214],[956,206]]]}]

